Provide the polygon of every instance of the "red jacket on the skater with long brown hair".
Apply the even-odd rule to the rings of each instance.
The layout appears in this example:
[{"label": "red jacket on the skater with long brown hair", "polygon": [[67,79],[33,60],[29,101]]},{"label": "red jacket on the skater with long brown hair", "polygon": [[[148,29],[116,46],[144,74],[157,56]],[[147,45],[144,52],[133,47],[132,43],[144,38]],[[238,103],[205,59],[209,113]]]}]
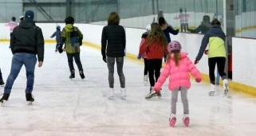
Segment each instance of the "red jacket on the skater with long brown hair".
[{"label": "red jacket on the skater with long brown hair", "polygon": [[140,46],[140,54],[144,54],[146,52],[146,56],[148,59],[162,59],[164,53],[168,54],[167,46],[163,49],[161,42],[153,41],[152,45],[146,46],[148,43],[148,38],[146,38],[143,45]]}]

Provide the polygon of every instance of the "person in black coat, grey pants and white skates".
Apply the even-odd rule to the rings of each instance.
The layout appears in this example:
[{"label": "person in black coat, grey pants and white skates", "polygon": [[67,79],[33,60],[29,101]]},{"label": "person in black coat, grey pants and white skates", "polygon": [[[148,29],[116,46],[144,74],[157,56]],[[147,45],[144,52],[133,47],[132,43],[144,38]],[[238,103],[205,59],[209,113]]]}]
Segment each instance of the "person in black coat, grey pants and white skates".
[{"label": "person in black coat, grey pants and white skates", "polygon": [[120,17],[116,12],[112,12],[108,16],[108,25],[102,29],[101,36],[101,55],[108,64],[108,98],[114,96],[114,65],[116,61],[117,73],[120,79],[120,91],[123,99],[126,97],[125,77],[123,72],[124,56],[125,56],[125,31],[124,27],[119,25]]}]

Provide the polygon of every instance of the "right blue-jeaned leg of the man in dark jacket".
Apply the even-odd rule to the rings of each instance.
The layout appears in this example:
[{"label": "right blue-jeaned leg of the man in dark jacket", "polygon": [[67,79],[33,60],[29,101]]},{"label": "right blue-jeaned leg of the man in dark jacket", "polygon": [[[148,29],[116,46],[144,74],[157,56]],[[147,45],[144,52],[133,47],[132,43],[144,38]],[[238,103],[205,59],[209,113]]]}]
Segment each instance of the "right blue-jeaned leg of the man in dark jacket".
[{"label": "right blue-jeaned leg of the man in dark jacket", "polygon": [[23,62],[26,68],[26,94],[28,94],[33,91],[34,69],[37,64],[37,57],[35,54],[26,53]]}]

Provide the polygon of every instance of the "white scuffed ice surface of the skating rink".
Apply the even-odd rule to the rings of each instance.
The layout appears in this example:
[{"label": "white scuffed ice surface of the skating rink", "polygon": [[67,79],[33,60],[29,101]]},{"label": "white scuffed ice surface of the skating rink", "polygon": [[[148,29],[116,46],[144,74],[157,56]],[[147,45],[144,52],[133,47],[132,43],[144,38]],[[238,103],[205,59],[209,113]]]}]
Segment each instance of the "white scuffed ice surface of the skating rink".
[{"label": "white scuffed ice surface of the skating rink", "polygon": [[[9,43],[0,43],[0,68],[6,82],[12,53]],[[36,68],[33,96],[25,98],[26,72],[23,67],[5,107],[0,107],[0,136],[243,136],[256,135],[256,98],[238,91],[207,95],[210,84],[191,79],[188,91],[191,125],[183,126],[183,105],[177,103],[175,127],[168,124],[171,93],[167,82],[162,98],[144,99],[149,85],[143,84],[144,65],[125,59],[127,99],[120,99],[120,84],[115,66],[115,95],[109,100],[108,68],[100,50],[81,47],[85,80],[77,65],[76,78],[69,80],[64,53],[54,52],[55,44],[45,45],[42,68]],[[207,67],[207,66],[206,66]],[[1,94],[4,88],[0,87]],[[2,95],[1,95],[2,97]]]}]

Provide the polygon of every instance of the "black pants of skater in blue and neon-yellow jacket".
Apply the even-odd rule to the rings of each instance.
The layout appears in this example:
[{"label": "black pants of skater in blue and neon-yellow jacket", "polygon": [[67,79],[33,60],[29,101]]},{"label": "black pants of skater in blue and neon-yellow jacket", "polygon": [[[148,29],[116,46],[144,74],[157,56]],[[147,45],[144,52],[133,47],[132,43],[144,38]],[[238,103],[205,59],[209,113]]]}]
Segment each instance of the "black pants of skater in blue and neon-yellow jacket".
[{"label": "black pants of skater in blue and neon-yellow jacket", "polygon": [[209,66],[209,76],[211,84],[215,84],[215,65],[217,64],[219,76],[222,77],[223,80],[226,79],[225,69],[226,57],[212,57],[208,59]]}]

